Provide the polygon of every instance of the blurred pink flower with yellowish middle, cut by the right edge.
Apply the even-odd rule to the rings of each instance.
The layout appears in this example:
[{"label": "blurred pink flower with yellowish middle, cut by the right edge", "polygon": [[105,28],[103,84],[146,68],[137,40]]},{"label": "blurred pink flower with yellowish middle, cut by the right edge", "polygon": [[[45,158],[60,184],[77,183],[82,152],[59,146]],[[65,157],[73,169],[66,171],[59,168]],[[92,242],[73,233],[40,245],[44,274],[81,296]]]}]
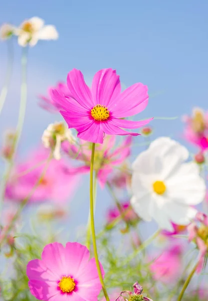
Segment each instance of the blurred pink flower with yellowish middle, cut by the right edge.
[{"label": "blurred pink flower with yellowish middle, cut by the right edge", "polygon": [[185,122],[184,137],[199,146],[203,152],[208,148],[208,112],[194,108],[192,116],[183,117]]}]

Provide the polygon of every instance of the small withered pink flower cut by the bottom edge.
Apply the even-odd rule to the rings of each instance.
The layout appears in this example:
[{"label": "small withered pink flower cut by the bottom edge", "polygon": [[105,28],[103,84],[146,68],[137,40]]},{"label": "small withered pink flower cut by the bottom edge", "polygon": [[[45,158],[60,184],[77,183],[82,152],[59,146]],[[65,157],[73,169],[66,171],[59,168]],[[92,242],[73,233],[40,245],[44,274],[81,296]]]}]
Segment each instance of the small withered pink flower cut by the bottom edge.
[{"label": "small withered pink flower cut by the bottom edge", "polygon": [[[147,298],[146,296],[144,296],[142,294],[143,287],[137,281],[133,284],[133,288],[134,288],[134,292],[132,292],[130,290],[121,291],[115,301],[117,301],[117,300],[118,301],[123,301],[123,300],[126,300],[126,301],[135,301],[135,300],[153,301],[152,299]],[[135,296],[137,296],[137,298]]]}]

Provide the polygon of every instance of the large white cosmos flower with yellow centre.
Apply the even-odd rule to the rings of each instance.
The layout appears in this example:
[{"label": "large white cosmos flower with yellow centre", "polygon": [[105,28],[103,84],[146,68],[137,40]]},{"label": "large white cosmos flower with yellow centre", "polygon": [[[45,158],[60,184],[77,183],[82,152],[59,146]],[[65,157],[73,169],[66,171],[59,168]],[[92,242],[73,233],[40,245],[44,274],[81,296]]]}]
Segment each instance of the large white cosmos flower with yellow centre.
[{"label": "large white cosmos flower with yellow centre", "polygon": [[171,222],[187,225],[195,216],[191,205],[205,196],[205,183],[196,163],[184,163],[188,150],[178,142],[160,137],[132,164],[131,205],[144,220],[154,219],[161,229]]}]

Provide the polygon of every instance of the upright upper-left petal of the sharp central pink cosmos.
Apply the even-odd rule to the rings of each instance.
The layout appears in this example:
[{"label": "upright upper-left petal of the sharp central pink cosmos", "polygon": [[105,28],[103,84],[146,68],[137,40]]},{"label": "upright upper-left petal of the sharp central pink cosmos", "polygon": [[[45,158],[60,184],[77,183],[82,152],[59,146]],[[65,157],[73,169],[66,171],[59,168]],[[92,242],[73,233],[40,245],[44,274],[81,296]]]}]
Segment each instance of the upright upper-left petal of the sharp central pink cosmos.
[{"label": "upright upper-left petal of the sharp central pink cosmos", "polygon": [[92,93],[90,88],[86,85],[80,70],[73,69],[68,73],[67,85],[74,99],[84,108],[91,110],[95,105],[92,100]]}]

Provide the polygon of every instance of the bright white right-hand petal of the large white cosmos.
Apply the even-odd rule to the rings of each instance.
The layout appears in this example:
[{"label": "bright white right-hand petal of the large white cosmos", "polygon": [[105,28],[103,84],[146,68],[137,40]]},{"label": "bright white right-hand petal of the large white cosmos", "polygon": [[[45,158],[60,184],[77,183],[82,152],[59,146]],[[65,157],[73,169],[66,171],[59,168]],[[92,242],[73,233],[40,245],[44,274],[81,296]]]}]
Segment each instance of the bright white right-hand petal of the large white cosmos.
[{"label": "bright white right-hand petal of the large white cosmos", "polygon": [[198,172],[194,162],[184,163],[178,173],[166,181],[168,197],[172,202],[197,205],[203,201],[206,187]]}]

